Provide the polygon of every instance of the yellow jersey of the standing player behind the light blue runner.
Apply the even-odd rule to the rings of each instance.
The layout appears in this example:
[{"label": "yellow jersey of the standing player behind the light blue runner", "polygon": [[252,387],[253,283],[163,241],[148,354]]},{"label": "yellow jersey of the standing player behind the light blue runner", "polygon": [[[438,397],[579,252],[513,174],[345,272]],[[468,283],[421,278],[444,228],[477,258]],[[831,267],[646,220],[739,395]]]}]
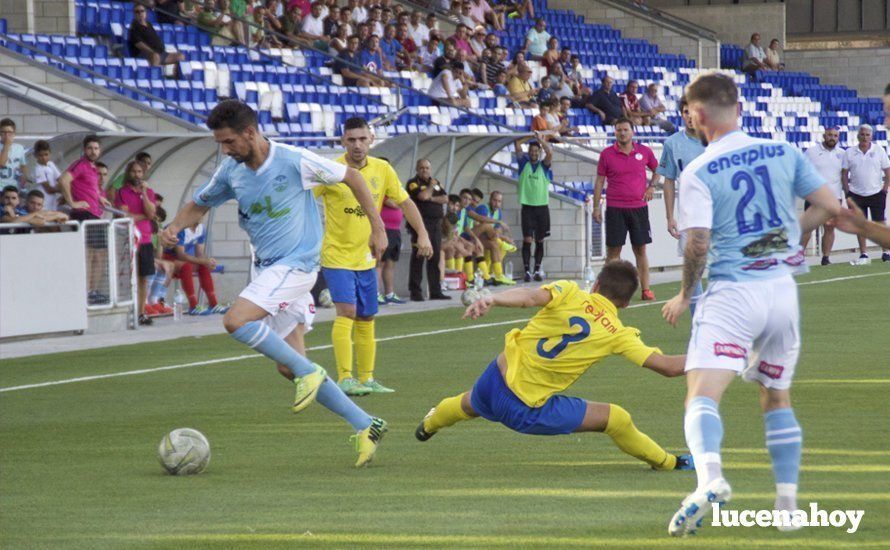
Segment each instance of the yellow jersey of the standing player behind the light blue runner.
[{"label": "yellow jersey of the standing player behind the light blue runner", "polygon": [[[346,164],[346,155],[340,156],[336,161]],[[392,199],[396,204],[408,200],[408,193],[402,189],[399,176],[385,160],[368,157],[365,167],[359,172],[368,182],[378,212],[386,198]],[[364,271],[377,265],[368,246],[371,224],[349,186],[341,182],[336,185],[319,185],[312,191],[324,201],[322,267]]]}]

